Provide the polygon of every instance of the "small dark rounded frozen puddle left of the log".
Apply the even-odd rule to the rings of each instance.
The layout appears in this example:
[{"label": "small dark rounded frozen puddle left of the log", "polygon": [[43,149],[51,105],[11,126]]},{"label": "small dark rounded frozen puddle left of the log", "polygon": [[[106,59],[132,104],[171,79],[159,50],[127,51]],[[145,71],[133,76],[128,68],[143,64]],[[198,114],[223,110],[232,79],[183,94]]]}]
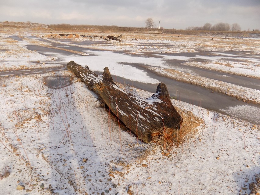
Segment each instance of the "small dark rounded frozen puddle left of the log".
[{"label": "small dark rounded frozen puddle left of the log", "polygon": [[71,85],[72,77],[48,76],[44,78],[44,84],[52,89],[59,89]]}]

